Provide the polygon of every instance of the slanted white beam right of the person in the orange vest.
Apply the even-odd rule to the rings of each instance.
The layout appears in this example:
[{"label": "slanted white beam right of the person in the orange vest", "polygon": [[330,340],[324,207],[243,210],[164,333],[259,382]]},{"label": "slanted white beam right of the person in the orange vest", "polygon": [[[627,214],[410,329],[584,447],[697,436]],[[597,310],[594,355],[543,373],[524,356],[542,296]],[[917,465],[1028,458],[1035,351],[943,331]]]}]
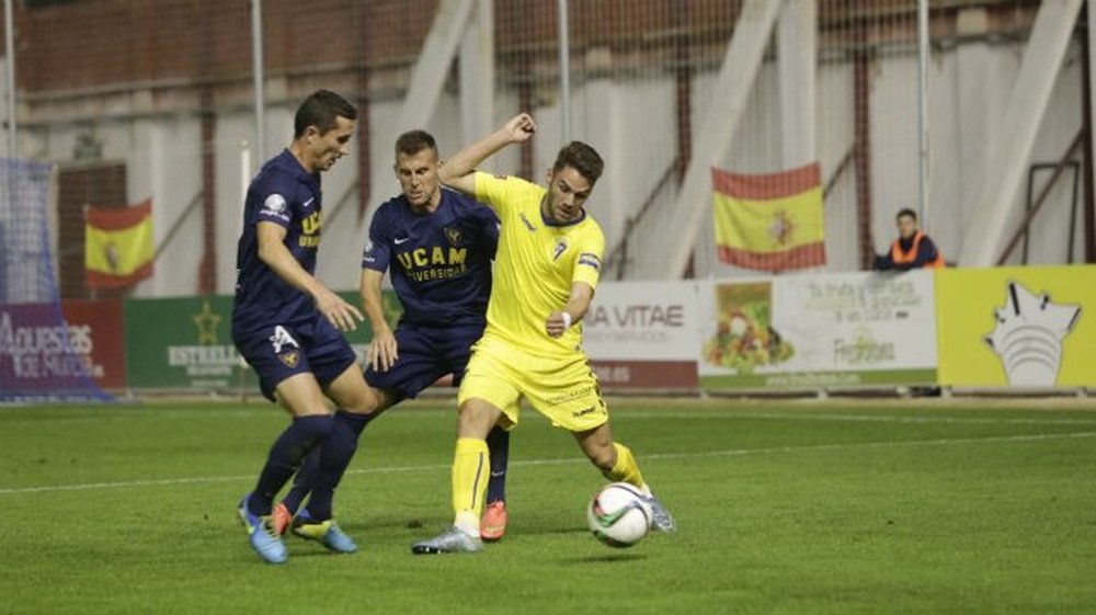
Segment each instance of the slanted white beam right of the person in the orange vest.
[{"label": "slanted white beam right of the person in the orange vest", "polygon": [[1081,0],[1043,0],[1039,7],[1003,121],[987,143],[959,255],[962,266],[996,264],[1080,10]]}]

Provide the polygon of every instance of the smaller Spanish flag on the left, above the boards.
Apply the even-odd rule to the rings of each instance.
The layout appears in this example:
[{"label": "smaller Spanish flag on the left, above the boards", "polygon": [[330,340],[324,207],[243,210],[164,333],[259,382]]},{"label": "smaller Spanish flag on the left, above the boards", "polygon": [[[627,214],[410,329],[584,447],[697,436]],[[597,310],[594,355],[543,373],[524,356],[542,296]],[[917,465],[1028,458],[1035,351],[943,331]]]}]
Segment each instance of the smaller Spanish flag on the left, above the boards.
[{"label": "smaller Spanish flag on the left, above the boards", "polygon": [[83,263],[89,288],[125,288],[152,275],[152,202],[111,209],[91,207]]}]

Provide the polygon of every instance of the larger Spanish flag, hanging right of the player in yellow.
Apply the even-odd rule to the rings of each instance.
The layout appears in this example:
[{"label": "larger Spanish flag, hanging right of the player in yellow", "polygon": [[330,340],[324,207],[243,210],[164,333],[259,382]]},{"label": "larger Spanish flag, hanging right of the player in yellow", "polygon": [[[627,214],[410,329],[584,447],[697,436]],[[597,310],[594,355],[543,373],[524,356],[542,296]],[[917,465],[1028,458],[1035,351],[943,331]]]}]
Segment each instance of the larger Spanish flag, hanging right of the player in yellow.
[{"label": "larger Spanish flag, hanging right of the player in yellow", "polygon": [[764,175],[712,168],[711,183],[719,260],[770,272],[825,264],[818,162]]}]

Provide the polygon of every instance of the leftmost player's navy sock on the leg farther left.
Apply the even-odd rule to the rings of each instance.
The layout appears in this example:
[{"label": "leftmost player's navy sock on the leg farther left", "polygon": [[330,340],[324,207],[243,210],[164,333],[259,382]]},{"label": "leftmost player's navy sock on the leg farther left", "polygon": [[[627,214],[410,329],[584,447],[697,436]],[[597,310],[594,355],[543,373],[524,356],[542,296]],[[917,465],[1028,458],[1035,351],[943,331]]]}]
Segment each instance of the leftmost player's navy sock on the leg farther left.
[{"label": "leftmost player's navy sock on the leg farther left", "polygon": [[248,502],[248,509],[252,514],[262,516],[271,513],[274,496],[282,490],[293,472],[297,471],[305,455],[328,436],[331,424],[330,414],[297,417],[282,435],[277,436],[266,455],[266,465],[263,466],[259,482]]}]

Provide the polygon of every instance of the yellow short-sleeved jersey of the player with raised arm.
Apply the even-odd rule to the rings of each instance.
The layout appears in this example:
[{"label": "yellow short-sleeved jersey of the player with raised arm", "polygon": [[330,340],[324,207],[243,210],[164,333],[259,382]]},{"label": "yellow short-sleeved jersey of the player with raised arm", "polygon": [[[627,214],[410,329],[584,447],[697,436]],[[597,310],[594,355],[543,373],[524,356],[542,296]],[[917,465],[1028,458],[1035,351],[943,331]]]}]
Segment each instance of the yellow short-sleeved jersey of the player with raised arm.
[{"label": "yellow short-sleeved jersey of the player with raised arm", "polygon": [[546,223],[540,202],[547,190],[537,184],[489,173],[476,173],[475,180],[477,201],[490,205],[502,223],[483,335],[532,354],[574,352],[582,343],[581,323],[553,339],[545,321],[567,305],[573,283],[597,287],[602,228],[589,213],[564,226]]}]

